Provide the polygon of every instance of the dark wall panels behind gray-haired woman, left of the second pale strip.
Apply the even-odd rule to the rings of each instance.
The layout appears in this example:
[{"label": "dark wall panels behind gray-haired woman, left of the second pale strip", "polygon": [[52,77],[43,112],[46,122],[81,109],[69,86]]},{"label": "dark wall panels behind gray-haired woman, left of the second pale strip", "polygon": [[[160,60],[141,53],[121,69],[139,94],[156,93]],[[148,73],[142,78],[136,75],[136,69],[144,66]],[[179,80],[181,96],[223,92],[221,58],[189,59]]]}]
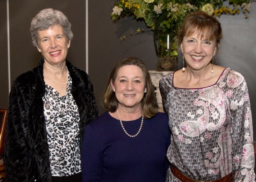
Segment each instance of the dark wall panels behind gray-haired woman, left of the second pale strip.
[{"label": "dark wall panels behind gray-haired woman, left of the second pale strip", "polygon": [[[0,108],[8,108],[8,52],[7,52],[7,8],[4,0],[0,1]],[[29,32],[33,17],[44,8],[58,9],[71,22],[74,39],[71,41],[67,58],[85,70],[85,1],[63,0],[9,0],[10,22],[10,75],[12,81],[38,65],[42,59],[31,43]],[[74,11],[70,11],[74,10]]]}]

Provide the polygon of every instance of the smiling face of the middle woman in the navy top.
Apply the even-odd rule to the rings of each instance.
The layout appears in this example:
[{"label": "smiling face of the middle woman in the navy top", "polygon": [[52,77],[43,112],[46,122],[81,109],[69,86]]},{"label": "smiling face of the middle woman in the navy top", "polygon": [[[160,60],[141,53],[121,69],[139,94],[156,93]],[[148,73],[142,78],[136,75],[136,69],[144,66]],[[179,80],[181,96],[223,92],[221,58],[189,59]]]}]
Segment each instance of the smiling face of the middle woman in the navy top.
[{"label": "smiling face of the middle woman in the navy top", "polygon": [[115,83],[111,81],[118,106],[140,108],[144,96],[145,80],[138,66],[126,65],[119,68]]}]

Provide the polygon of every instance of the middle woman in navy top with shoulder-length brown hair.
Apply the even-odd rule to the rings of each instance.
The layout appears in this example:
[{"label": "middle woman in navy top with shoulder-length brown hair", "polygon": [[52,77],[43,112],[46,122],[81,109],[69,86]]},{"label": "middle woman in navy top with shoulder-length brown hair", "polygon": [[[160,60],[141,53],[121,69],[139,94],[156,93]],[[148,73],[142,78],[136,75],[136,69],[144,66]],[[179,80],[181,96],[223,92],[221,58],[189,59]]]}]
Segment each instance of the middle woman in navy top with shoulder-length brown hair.
[{"label": "middle woman in navy top with shoulder-length brown hair", "polygon": [[140,59],[129,57],[117,63],[103,104],[108,111],[85,129],[83,182],[164,182],[168,118],[157,111],[154,87]]}]

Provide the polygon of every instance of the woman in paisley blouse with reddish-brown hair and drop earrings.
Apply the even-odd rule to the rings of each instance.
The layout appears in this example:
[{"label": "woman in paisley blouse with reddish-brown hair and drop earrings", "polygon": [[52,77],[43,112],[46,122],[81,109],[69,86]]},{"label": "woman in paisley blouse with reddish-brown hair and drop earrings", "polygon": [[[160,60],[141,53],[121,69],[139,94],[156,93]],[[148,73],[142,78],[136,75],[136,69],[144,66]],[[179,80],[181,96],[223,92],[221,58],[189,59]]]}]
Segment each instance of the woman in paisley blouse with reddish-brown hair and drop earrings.
[{"label": "woman in paisley blouse with reddish-brown hair and drop earrings", "polygon": [[169,115],[169,182],[252,182],[252,115],[244,77],[214,65],[220,22],[205,12],[186,17],[178,42],[187,67],[159,86]]}]

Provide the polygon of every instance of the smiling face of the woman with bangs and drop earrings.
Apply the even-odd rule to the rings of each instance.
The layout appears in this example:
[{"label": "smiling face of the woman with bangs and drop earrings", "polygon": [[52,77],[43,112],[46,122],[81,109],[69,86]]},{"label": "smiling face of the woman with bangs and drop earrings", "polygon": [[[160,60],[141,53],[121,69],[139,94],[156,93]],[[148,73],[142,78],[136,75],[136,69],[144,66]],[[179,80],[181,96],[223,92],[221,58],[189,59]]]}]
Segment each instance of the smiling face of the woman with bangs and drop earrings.
[{"label": "smiling face of the woman with bangs and drop earrings", "polygon": [[214,40],[207,40],[197,33],[191,36],[184,36],[180,47],[187,67],[191,70],[199,71],[210,66],[212,57],[217,51]]}]

